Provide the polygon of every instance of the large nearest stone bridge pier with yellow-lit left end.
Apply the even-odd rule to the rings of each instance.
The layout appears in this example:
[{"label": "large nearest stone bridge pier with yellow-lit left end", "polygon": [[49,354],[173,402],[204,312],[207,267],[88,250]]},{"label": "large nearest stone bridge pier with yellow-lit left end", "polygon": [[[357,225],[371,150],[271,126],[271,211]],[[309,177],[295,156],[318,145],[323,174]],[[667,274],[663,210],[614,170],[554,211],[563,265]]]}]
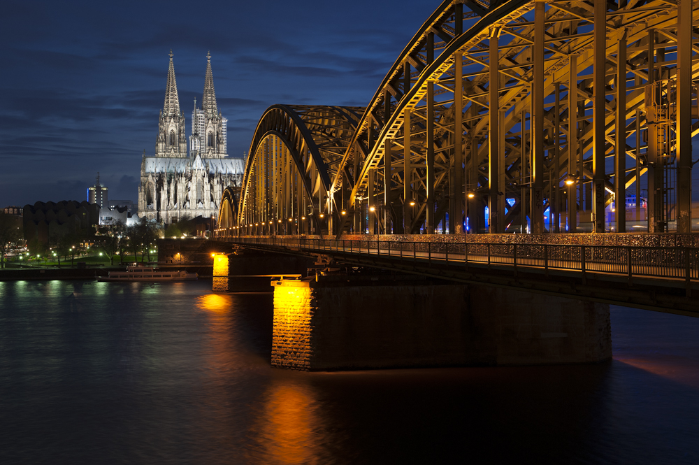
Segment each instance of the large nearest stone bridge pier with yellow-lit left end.
[{"label": "large nearest stone bridge pier with yellow-lit left end", "polygon": [[349,278],[273,282],[273,366],[313,371],[612,357],[607,304],[420,278]]}]

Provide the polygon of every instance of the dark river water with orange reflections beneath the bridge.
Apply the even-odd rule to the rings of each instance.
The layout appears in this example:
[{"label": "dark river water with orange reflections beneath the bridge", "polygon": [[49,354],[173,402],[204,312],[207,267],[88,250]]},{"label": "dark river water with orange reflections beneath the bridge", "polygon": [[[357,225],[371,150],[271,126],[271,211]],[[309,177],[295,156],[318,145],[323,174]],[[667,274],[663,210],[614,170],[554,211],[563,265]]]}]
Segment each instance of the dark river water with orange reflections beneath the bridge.
[{"label": "dark river water with orange reflections beneath the bridge", "polygon": [[699,319],[612,308],[612,362],[301,373],[271,294],[0,282],[1,464],[699,463]]}]

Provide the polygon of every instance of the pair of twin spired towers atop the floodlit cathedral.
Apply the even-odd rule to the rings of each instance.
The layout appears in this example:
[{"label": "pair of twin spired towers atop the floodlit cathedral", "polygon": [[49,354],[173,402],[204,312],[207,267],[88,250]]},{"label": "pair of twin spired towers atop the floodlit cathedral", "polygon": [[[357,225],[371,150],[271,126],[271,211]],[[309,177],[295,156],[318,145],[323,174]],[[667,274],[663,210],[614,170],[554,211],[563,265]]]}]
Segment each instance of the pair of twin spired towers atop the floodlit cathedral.
[{"label": "pair of twin spired towers atop the floodlit cathedral", "polygon": [[[218,111],[214,78],[211,71],[211,54],[206,54],[206,78],[201,108],[194,99],[192,111],[192,134],[189,136],[189,157],[224,158],[227,156],[226,118]],[[175,80],[173,52],[170,50],[170,66],[165,87],[165,103],[160,112],[158,138],[155,145],[156,157],[187,157],[185,136],[185,114],[180,110],[180,99]]]}]

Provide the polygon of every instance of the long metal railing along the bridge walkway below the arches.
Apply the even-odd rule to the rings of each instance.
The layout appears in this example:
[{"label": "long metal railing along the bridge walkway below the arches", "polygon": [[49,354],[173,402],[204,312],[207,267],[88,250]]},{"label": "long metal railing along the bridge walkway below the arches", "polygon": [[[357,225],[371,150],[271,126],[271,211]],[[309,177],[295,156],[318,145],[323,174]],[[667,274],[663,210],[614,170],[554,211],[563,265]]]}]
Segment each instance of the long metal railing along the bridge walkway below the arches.
[{"label": "long metal railing along the bridge walkway below the arches", "polygon": [[435,264],[486,264],[545,270],[699,279],[699,249],[618,245],[431,243],[334,238],[240,237],[234,242],[312,252],[379,255]]}]

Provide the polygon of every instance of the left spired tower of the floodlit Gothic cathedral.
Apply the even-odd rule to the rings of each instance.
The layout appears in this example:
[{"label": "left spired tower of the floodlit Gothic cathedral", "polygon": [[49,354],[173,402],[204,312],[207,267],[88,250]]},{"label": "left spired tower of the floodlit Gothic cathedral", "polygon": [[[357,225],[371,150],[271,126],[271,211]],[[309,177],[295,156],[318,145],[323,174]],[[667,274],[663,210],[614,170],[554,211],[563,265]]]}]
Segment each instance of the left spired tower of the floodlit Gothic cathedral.
[{"label": "left spired tower of the floodlit Gothic cathedral", "polygon": [[156,157],[187,157],[185,136],[185,114],[180,111],[180,99],[175,80],[173,51],[170,50],[170,68],[165,87],[165,103],[160,112],[158,140],[155,144]]}]

